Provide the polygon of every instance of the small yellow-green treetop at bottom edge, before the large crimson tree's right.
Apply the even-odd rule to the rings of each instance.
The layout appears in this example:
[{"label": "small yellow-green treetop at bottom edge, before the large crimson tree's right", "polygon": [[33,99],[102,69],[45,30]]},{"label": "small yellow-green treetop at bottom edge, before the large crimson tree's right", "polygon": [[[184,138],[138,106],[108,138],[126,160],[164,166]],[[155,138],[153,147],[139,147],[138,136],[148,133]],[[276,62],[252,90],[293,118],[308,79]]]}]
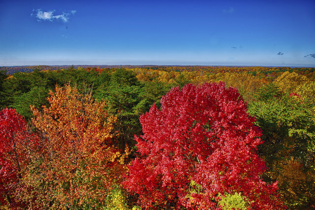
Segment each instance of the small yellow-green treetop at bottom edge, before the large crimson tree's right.
[{"label": "small yellow-green treetop at bottom edge, before the large crimson tree's right", "polygon": [[248,203],[241,193],[227,194],[219,201],[222,210],[248,210]]}]

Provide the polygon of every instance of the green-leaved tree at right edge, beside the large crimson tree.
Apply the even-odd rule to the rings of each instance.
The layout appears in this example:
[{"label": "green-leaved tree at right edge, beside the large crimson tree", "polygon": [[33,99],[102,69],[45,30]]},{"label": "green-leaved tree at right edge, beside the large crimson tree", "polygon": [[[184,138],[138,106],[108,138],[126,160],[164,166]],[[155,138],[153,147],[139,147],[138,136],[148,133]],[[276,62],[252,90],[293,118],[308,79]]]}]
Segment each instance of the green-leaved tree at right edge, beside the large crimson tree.
[{"label": "green-leaved tree at right edge, beside the large crimson tree", "polygon": [[[271,91],[274,94],[274,91]],[[255,116],[256,124],[263,130],[265,141],[263,153],[277,155],[270,147],[290,150],[290,155],[306,163],[308,152],[314,144],[315,124],[311,106],[295,96],[281,95],[264,97],[249,105],[249,113]],[[277,148],[277,151],[281,151]],[[309,148],[309,149],[308,149]],[[282,155],[279,158],[283,158]],[[268,162],[268,161],[267,161]]]}]

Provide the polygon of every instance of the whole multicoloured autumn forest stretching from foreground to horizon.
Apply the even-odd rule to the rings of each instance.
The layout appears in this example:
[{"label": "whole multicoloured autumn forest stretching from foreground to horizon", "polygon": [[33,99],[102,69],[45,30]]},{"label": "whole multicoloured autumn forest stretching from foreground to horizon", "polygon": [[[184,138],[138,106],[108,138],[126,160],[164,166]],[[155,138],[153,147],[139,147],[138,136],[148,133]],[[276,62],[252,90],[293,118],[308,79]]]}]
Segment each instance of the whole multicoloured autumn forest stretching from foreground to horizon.
[{"label": "whole multicoloured autumn forest stretching from foreground to horizon", "polygon": [[0,110],[1,209],[315,208],[315,68],[1,67]]}]

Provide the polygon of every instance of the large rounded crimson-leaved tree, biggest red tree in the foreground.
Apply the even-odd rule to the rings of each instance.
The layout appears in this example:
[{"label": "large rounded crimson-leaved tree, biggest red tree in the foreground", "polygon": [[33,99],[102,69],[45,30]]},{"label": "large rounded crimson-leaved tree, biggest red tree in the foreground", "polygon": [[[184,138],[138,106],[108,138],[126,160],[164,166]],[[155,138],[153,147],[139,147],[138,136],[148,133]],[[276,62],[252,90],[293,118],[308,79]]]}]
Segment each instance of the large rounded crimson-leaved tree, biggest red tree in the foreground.
[{"label": "large rounded crimson-leaved tree, biggest red tree in the foreground", "polygon": [[140,117],[143,135],[124,185],[144,208],[216,209],[241,193],[250,208],[281,206],[277,183],[261,180],[261,131],[238,90],[224,83],[173,88]]}]

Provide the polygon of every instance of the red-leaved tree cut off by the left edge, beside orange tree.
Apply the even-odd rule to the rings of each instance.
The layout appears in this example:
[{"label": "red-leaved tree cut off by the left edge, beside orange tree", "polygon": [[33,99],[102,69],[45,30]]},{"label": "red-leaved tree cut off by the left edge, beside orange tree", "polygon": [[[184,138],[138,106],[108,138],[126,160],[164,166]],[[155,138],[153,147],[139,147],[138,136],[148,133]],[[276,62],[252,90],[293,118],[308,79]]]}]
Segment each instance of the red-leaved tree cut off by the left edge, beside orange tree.
[{"label": "red-leaved tree cut off by the left edge, beside orange tree", "polygon": [[0,204],[20,206],[15,198],[21,172],[28,162],[34,138],[26,121],[14,109],[0,112]]}]

